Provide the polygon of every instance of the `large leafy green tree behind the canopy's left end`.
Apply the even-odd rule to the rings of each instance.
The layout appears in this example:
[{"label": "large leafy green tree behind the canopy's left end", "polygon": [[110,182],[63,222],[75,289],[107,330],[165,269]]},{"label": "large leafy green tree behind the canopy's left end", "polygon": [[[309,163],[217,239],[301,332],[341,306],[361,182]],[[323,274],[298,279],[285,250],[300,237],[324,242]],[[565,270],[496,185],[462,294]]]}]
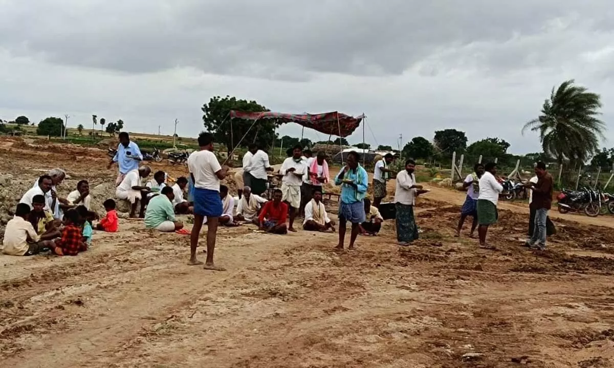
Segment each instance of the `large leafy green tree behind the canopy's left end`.
[{"label": "large leafy green tree behind the canopy's left end", "polygon": [[228,152],[233,150],[234,147],[232,146],[237,145],[243,136],[245,136],[241,142],[243,146],[247,146],[251,142],[271,144],[274,139],[275,128],[279,126],[272,119],[258,120],[251,129],[250,127],[254,121],[243,119],[233,119],[232,122],[230,121],[230,110],[244,112],[268,111],[266,107],[258,104],[256,101],[247,101],[230,96],[224,98],[215,96],[207,104],[204,104],[201,110],[204,113],[204,128],[214,135],[216,142],[226,145]]}]

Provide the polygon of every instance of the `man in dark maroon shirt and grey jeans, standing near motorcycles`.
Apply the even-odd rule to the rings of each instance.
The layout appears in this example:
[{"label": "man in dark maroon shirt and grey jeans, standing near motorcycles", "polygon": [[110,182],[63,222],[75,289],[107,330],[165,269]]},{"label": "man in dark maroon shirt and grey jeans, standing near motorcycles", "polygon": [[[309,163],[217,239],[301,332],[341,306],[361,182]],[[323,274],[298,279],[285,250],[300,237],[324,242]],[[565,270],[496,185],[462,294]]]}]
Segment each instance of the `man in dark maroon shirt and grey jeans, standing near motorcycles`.
[{"label": "man in dark maroon shirt and grey jeans, standing near motorcycles", "polygon": [[546,164],[542,161],[535,165],[537,183],[529,182],[527,186],[532,189],[532,201],[530,208],[535,210],[535,229],[533,236],[527,240],[526,246],[531,249],[546,249],[546,221],[548,210],[552,206],[553,178],[546,171]]}]

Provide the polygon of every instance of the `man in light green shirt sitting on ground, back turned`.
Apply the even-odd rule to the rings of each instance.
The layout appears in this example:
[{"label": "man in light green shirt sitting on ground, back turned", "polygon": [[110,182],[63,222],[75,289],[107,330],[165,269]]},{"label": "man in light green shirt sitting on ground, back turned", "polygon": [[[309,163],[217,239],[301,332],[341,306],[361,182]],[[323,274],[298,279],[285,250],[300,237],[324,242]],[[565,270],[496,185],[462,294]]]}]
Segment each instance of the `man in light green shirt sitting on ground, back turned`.
[{"label": "man in light green shirt sitting on ground, back turned", "polygon": [[184,228],[181,221],[175,218],[175,209],[173,207],[173,188],[165,186],[160,191],[160,196],[155,196],[150,199],[145,212],[145,226],[147,229],[156,229],[158,231],[171,232],[178,231]]}]

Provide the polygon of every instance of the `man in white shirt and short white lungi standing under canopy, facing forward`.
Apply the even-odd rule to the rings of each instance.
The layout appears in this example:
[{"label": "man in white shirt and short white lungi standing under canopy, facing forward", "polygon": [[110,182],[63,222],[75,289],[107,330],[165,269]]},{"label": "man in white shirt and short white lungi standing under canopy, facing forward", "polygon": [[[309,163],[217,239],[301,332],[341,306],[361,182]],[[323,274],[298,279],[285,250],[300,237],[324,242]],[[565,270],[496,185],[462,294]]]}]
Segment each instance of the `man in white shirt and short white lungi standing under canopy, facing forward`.
[{"label": "man in white shirt and short white lungi standing under canopy, facing forward", "polygon": [[307,172],[307,165],[301,159],[303,147],[297,145],[292,150],[292,157],[286,158],[279,169],[279,173],[284,175],[281,179],[282,201],[290,207],[290,224],[288,231],[297,232],[294,229],[294,219],[297,217],[297,210],[301,206],[301,185],[303,177]]}]

